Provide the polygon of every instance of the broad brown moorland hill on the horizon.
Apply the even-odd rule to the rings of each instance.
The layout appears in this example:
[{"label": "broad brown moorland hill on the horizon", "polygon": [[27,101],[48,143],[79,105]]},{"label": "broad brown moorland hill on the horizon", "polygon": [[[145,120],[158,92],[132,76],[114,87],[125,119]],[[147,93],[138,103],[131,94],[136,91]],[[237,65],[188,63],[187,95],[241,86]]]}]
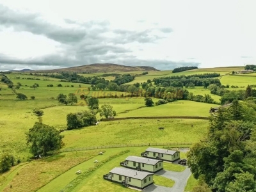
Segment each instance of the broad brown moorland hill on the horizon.
[{"label": "broad brown moorland hill on the horizon", "polygon": [[[132,67],[111,63],[95,63],[91,65],[82,65],[77,67],[68,67],[68,68],[58,68],[52,70],[36,70],[35,72],[78,72],[78,73],[99,73],[99,72],[131,72],[131,71],[145,71],[145,70],[157,70],[154,67]],[[158,70],[157,70],[158,71]]]}]

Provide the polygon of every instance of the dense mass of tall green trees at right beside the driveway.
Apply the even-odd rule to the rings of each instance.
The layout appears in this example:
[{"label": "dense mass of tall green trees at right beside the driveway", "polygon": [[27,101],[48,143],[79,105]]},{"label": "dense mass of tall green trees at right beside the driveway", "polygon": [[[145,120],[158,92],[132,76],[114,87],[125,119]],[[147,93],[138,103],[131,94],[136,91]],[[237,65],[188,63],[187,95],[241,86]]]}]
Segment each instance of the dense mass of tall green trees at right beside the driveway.
[{"label": "dense mass of tall green trees at right beside the driveway", "polygon": [[207,134],[189,150],[192,191],[256,191],[256,102],[233,100],[209,120]]}]

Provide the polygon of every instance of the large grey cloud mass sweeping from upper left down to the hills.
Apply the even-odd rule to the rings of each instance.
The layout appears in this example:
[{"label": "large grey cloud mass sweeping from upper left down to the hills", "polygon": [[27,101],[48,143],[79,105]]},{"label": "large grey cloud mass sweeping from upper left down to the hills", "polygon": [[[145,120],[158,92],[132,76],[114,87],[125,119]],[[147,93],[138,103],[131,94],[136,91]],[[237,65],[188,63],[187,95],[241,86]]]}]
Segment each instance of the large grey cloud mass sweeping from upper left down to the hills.
[{"label": "large grey cloud mass sweeping from upper left down to the hills", "polygon": [[[140,44],[156,43],[171,33],[171,28],[150,28],[143,31],[129,31],[124,29],[110,29],[107,20],[92,20],[77,22],[64,19],[65,28],[51,24],[42,19],[39,13],[16,12],[0,4],[0,30],[12,27],[15,31],[28,31],[35,35],[44,35],[47,38],[60,42],[62,51],[38,58],[13,58],[0,53],[0,70],[12,70],[13,67],[45,69],[47,67],[63,68],[91,63],[116,63],[123,65],[148,65],[156,68],[174,68],[178,65],[187,66],[187,63],[175,63],[165,60],[140,60],[132,54],[132,50],[125,48],[125,44],[138,42]],[[142,21],[141,21],[142,22]],[[114,33],[114,37],[106,36]],[[191,65],[191,64],[188,64]],[[173,67],[172,67],[173,66]],[[35,67],[35,68],[34,68]]]}]

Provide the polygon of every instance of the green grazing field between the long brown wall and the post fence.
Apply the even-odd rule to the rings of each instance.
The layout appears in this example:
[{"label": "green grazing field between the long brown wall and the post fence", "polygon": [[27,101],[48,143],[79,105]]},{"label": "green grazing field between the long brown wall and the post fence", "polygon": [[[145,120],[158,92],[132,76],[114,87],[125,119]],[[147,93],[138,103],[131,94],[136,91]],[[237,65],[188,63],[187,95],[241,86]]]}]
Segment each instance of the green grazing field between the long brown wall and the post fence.
[{"label": "green grazing field between the long brown wall and the post fence", "polygon": [[[193,125],[193,127],[191,126]],[[64,131],[64,148],[196,142],[207,132],[208,120],[120,120]],[[160,131],[158,127],[164,127]]]}]

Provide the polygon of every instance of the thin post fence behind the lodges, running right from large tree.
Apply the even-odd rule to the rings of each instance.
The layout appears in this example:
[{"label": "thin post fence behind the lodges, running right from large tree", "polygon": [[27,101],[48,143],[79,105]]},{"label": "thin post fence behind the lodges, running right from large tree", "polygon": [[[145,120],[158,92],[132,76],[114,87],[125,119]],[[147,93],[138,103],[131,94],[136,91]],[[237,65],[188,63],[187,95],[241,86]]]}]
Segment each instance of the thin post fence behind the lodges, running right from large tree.
[{"label": "thin post fence behind the lodges, running right from large tree", "polygon": [[193,143],[141,143],[141,144],[120,144],[120,145],[105,145],[105,146],[92,146],[92,147],[83,147],[83,148],[65,148],[61,149],[60,152],[72,152],[72,151],[81,151],[81,150],[92,150],[100,148],[122,148],[122,147],[145,147],[145,146],[178,146],[185,145],[190,146]]}]

